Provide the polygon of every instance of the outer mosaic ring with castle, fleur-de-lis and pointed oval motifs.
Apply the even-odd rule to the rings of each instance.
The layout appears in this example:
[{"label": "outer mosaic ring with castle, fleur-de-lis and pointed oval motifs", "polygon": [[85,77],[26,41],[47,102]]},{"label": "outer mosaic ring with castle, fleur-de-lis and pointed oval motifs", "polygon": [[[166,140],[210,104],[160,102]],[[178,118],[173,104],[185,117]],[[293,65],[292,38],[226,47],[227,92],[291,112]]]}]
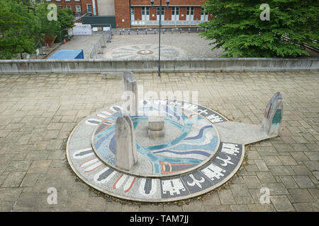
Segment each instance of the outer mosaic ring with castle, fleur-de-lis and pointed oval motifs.
[{"label": "outer mosaic ring with castle, fleur-de-lis and pointed oval motifs", "polygon": [[[198,113],[201,112],[212,124],[227,121],[217,112],[201,105],[197,106]],[[244,145],[225,143],[223,138],[220,138],[216,155],[209,162],[186,174],[150,178],[118,172],[101,162],[91,147],[91,134],[96,129],[94,124],[97,126],[101,122],[99,119],[92,119],[92,116],[99,112],[86,117],[72,131],[67,141],[67,160],[80,179],[110,196],[150,203],[193,198],[227,182],[240,168],[244,158]],[[92,120],[88,121],[89,119]]]}]

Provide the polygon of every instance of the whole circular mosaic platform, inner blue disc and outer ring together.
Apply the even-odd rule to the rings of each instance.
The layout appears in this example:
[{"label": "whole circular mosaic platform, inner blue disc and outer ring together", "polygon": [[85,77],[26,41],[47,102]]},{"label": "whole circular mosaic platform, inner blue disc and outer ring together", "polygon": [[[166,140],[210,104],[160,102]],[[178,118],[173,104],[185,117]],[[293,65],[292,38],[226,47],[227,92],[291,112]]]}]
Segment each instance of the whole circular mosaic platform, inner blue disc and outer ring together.
[{"label": "whole circular mosaic platform, inner blue disc and outer ring together", "polygon": [[[164,138],[148,138],[147,115],[164,112]],[[121,105],[86,117],[67,142],[67,159],[86,184],[131,201],[178,201],[205,194],[239,169],[245,149],[220,139],[214,124],[228,121],[211,109],[179,100],[142,100],[131,116],[138,163],[116,167],[115,123]]]}]

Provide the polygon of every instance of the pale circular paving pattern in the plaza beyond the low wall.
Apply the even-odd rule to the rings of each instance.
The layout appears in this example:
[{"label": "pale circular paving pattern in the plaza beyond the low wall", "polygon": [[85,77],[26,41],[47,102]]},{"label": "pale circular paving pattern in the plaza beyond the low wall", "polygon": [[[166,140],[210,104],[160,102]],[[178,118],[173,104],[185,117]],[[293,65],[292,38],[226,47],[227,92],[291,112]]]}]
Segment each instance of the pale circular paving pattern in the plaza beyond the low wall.
[{"label": "pale circular paving pattern in the plaza beyond the low wall", "polygon": [[[158,59],[158,44],[135,44],[114,49],[107,56],[115,59]],[[172,59],[184,55],[184,51],[161,44],[161,59]],[[107,57],[106,57],[107,58]]]}]

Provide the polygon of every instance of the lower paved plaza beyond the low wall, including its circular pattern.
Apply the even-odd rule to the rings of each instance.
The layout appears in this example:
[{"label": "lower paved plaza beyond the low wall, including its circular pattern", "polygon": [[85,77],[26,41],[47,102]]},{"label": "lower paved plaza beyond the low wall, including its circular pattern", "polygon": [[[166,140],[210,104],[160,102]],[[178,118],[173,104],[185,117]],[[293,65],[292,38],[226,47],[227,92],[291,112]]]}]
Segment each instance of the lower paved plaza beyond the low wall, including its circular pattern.
[{"label": "lower paved plaza beyond the low wall, including its circular pattern", "polygon": [[[107,39],[107,35],[105,38]],[[67,44],[62,44],[57,49],[83,49],[84,58],[88,59],[93,45],[102,35],[76,35]],[[104,59],[136,59],[136,58],[158,58],[159,35],[145,30],[136,34],[131,31],[130,35],[126,31],[125,35],[113,35],[111,42],[106,42],[103,54],[97,54],[98,58]],[[196,44],[195,44],[196,43]],[[220,49],[211,51],[210,41],[205,40],[199,33],[179,33],[172,34],[166,31],[161,35],[162,59],[165,58],[213,58],[221,57],[223,52]],[[150,50],[151,54],[138,54],[141,50]]]}]

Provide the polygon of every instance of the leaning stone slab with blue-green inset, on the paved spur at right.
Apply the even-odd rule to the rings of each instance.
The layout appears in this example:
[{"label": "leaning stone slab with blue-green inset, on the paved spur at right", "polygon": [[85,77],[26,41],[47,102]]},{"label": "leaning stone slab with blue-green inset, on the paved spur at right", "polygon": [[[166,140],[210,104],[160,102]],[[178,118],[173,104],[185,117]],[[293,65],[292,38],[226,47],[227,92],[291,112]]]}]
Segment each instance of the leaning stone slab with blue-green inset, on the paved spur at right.
[{"label": "leaning stone slab with blue-green inset, on the paved spur at right", "polygon": [[283,115],[283,100],[279,92],[272,96],[264,111],[262,130],[269,136],[278,136]]}]

